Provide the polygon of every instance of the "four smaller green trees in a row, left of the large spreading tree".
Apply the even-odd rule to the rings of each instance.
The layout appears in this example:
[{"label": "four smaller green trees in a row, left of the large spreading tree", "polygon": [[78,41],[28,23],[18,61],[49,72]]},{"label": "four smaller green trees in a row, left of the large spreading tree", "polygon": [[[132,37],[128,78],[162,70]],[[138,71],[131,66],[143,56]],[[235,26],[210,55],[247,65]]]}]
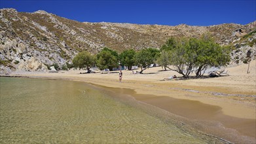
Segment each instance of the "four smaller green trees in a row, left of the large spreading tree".
[{"label": "four smaller green trees in a row, left of the large spreading tree", "polygon": [[133,65],[139,65],[142,73],[152,63],[156,62],[157,56],[159,56],[160,50],[156,48],[146,48],[136,52],[133,49],[124,50],[118,54],[117,51],[109,48],[103,48],[101,52],[96,55],[92,55],[87,51],[79,52],[75,58],[73,58],[73,64],[79,69],[86,68],[87,73],[90,73],[90,68],[97,66],[100,70],[109,69],[113,70],[119,65],[126,65],[128,70],[132,69]]}]

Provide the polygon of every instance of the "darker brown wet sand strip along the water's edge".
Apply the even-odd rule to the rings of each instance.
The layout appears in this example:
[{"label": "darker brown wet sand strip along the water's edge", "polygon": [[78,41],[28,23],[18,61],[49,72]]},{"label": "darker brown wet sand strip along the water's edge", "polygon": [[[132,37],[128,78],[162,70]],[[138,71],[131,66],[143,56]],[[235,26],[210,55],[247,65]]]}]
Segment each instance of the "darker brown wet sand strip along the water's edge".
[{"label": "darker brown wet sand strip along the water's edge", "polygon": [[134,90],[126,88],[103,88],[116,94],[132,96],[138,101],[159,107],[174,114],[170,118],[189,124],[204,134],[214,135],[217,139],[225,139],[227,143],[229,141],[231,143],[255,143],[255,119],[230,117],[222,113],[221,107],[200,101],[136,94]]}]

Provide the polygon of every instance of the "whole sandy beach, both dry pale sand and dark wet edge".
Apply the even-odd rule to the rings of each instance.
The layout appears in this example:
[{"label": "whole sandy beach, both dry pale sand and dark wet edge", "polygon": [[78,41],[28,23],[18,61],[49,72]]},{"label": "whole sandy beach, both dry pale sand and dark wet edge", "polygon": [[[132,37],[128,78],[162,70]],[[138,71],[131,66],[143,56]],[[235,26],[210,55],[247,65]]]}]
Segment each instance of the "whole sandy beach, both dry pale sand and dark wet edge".
[{"label": "whole sandy beach, both dry pale sand and dark wet edge", "polygon": [[[208,130],[200,128],[202,131],[235,143],[255,143],[255,64],[255,60],[250,63],[248,74],[247,64],[243,64],[226,67],[230,75],[227,77],[171,81],[163,79],[171,75],[179,78],[181,75],[174,71],[162,71],[162,67],[151,67],[143,71],[144,74],[123,70],[122,82],[119,82],[118,71],[90,74],[81,74],[85,72],[82,70],[58,73],[17,72],[10,76],[67,79],[119,88],[119,93],[129,94],[139,101],[208,126]],[[231,131],[232,134],[227,134]]]}]

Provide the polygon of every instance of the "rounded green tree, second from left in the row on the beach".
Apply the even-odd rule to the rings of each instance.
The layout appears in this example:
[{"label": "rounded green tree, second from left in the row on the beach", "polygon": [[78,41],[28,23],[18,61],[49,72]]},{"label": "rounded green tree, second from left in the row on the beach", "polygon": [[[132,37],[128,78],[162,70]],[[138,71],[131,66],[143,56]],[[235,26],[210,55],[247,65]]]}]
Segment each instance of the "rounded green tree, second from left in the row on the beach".
[{"label": "rounded green tree, second from left in the row on the beach", "polygon": [[97,66],[100,70],[118,67],[117,56],[114,56],[109,50],[101,50],[97,54]]}]

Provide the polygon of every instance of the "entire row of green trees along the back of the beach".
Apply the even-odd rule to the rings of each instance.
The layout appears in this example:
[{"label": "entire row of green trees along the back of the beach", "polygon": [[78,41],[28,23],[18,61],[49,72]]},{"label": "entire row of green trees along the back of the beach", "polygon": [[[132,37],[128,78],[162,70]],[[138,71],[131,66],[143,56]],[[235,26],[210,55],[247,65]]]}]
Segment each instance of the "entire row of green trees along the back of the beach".
[{"label": "entire row of green trees along the back of the beach", "polygon": [[207,68],[223,66],[228,62],[230,48],[218,45],[210,35],[203,35],[200,39],[172,37],[160,50],[144,48],[136,52],[129,49],[118,54],[115,50],[103,48],[97,55],[84,51],[73,59],[75,67],[86,68],[88,73],[95,65],[100,70],[112,70],[119,64],[126,65],[129,70],[132,65],[138,65],[141,69],[139,73],[143,73],[152,63],[158,63],[165,70],[177,71],[185,78],[189,77],[192,71],[196,73],[196,77],[200,77]]}]

